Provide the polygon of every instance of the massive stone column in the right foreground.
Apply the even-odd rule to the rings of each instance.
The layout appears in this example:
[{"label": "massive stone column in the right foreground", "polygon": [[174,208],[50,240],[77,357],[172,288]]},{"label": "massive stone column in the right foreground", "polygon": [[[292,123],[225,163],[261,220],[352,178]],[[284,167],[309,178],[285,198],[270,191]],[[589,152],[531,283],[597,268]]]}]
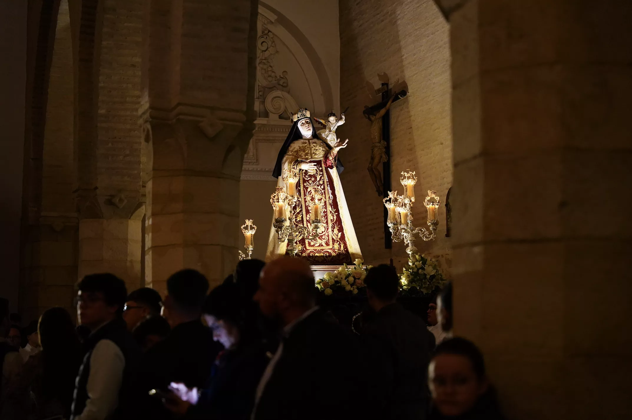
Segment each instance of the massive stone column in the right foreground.
[{"label": "massive stone column in the right foreground", "polygon": [[632,3],[459,6],[455,333],[508,417],[629,418]]}]

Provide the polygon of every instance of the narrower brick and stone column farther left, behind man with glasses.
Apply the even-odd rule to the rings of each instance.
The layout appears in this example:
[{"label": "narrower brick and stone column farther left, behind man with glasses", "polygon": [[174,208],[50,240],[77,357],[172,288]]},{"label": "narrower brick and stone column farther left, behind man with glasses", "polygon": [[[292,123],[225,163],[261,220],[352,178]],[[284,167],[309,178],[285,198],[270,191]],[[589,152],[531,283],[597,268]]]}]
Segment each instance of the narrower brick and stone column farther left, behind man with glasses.
[{"label": "narrower brick and stone column farther left, behind man with glasses", "polygon": [[78,52],[78,277],[141,279],[143,11],[146,0],[84,3]]}]

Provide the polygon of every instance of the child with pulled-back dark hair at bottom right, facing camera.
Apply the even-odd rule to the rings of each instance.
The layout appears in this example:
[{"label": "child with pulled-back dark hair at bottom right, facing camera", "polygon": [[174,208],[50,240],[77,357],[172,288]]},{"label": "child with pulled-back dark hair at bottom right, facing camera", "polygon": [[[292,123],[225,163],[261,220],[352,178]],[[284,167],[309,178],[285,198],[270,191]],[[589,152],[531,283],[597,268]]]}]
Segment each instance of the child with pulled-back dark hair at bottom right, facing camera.
[{"label": "child with pulled-back dark hair at bottom right, facing camera", "polygon": [[503,420],[478,347],[461,337],[437,345],[428,366],[428,420]]}]

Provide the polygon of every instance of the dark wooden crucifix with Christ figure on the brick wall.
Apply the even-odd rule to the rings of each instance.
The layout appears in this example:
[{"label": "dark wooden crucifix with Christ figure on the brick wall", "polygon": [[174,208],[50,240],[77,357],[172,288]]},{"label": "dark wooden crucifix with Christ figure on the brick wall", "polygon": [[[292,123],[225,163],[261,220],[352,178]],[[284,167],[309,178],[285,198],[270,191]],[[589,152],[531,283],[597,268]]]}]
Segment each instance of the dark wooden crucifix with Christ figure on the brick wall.
[{"label": "dark wooden crucifix with Christ figure on the brick wall", "polygon": [[[371,107],[365,106],[363,114],[371,122],[371,159],[368,162],[368,174],[379,196],[385,196],[391,189],[391,113],[389,108],[396,100],[406,96],[406,91],[392,93],[389,84],[382,83],[382,87],[375,90],[376,95],[382,95],[382,102]],[[382,164],[382,173],[379,165]],[[391,230],[387,225],[388,211],[384,207],[384,248],[391,249]]]}]

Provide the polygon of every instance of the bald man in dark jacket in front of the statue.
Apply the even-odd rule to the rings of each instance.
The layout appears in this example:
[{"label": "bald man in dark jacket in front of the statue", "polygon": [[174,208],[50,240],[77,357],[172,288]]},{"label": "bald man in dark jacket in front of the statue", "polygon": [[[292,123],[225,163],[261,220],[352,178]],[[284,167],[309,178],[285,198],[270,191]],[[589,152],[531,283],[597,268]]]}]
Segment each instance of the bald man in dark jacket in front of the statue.
[{"label": "bald man in dark jacket in front of the statue", "polygon": [[254,299],[283,338],[257,387],[253,420],[366,420],[365,408],[379,405],[369,407],[360,343],[324,316],[315,296],[305,260],[283,257],[262,270]]}]

